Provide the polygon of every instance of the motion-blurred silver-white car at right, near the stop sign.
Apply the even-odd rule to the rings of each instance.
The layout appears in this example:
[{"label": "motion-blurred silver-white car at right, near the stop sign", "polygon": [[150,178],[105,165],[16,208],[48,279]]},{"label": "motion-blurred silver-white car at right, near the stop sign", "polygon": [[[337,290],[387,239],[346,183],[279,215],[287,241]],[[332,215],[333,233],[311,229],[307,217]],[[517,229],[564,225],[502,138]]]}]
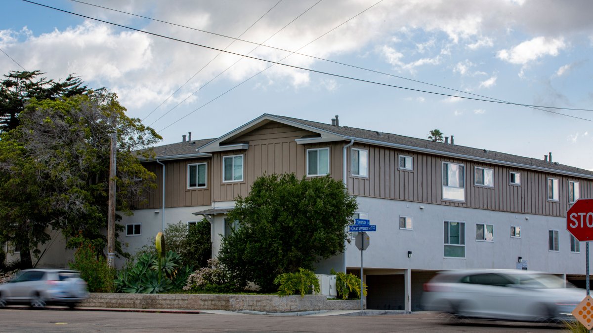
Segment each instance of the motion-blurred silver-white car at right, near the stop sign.
[{"label": "motion-blurred silver-white car at right, near the stop sign", "polygon": [[424,285],[422,305],[455,318],[560,321],[574,319],[570,312],[585,294],[553,274],[454,270],[439,272]]}]

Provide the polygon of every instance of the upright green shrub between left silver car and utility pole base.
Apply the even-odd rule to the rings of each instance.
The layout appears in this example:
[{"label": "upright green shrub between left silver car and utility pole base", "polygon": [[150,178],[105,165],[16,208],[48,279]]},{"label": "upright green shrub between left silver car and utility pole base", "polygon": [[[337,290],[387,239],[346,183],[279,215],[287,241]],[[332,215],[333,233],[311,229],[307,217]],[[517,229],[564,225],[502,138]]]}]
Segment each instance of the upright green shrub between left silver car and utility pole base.
[{"label": "upright green shrub between left silver car and utility pole base", "polygon": [[106,258],[98,254],[92,241],[82,237],[79,237],[79,241],[74,261],[68,262],[70,268],[80,271],[91,293],[113,292],[115,270],[107,265]]}]

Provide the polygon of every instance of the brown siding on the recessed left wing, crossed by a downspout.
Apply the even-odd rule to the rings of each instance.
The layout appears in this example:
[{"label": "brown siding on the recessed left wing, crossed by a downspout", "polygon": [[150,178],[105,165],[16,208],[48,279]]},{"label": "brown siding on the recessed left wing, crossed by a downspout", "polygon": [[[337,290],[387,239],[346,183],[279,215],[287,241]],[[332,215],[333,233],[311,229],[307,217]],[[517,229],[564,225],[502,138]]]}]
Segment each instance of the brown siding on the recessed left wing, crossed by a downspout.
[{"label": "brown siding on the recessed left wing, crossed by a downspout", "polygon": [[[162,161],[165,164],[165,208],[207,206],[211,203],[212,171],[210,158],[177,159]],[[187,165],[206,163],[206,187],[187,188]],[[162,208],[162,166],[146,162],[144,167],[157,175],[157,188],[145,190],[148,203],[135,203],[138,209]]]}]

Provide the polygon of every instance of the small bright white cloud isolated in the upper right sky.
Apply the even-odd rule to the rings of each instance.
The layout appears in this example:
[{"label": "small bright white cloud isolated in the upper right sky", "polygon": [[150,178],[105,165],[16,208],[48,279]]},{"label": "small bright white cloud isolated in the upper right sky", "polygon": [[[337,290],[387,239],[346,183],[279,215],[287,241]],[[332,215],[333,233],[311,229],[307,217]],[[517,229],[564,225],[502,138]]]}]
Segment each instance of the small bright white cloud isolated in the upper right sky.
[{"label": "small bright white cloud isolated in the upper right sky", "polygon": [[503,61],[518,65],[525,65],[529,62],[544,56],[557,56],[560,50],[567,47],[563,38],[550,39],[546,37],[535,37],[524,41],[510,50],[500,50],[496,56]]}]

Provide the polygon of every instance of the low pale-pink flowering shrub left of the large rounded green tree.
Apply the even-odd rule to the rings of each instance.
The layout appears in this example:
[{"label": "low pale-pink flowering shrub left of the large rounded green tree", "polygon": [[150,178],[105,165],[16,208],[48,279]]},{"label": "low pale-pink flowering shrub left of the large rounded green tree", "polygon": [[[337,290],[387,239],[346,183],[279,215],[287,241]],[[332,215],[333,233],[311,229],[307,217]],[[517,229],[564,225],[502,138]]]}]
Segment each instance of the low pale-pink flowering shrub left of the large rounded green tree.
[{"label": "low pale-pink flowering shrub left of the large rounded green tree", "polygon": [[217,259],[209,259],[208,267],[203,267],[187,277],[183,290],[194,292],[236,292],[241,290],[232,280],[231,272]]}]

